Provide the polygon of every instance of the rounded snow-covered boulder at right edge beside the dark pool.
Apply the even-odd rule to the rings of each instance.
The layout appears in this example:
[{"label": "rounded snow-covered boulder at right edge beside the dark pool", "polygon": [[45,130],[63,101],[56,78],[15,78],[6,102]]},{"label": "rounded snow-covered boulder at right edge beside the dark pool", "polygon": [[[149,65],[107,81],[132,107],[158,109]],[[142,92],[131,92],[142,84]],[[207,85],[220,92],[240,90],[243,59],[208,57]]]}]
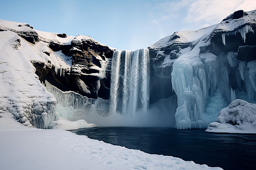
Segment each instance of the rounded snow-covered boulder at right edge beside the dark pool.
[{"label": "rounded snow-covered boulder at right edge beside the dark pool", "polygon": [[215,122],[205,130],[211,133],[256,133],[256,104],[234,100],[222,109]]}]

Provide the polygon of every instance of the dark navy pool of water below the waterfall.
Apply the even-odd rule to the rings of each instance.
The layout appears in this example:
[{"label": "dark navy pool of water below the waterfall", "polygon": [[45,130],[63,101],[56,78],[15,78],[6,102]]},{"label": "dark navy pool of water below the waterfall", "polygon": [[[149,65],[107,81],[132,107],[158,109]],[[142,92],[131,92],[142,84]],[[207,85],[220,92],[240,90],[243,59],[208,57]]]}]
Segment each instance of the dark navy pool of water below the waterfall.
[{"label": "dark navy pool of water below the waterfall", "polygon": [[212,134],[172,128],[90,128],[73,130],[113,145],[170,155],[224,169],[256,169],[256,135]]}]

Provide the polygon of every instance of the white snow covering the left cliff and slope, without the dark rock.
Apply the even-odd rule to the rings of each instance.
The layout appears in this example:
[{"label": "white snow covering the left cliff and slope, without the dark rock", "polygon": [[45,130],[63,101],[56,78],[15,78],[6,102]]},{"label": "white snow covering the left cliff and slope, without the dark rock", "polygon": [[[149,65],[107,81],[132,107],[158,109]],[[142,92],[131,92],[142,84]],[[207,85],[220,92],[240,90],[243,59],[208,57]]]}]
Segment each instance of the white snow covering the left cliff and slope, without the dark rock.
[{"label": "white snow covering the left cliff and slope, without the dark rock", "polygon": [[[0,114],[10,112],[14,118],[26,126],[47,129],[79,129],[95,125],[86,121],[71,122],[59,120],[56,112],[56,99],[40,83],[32,63],[42,63],[44,67],[55,69],[64,76],[70,73],[72,57],[61,51],[53,52],[48,42],[71,44],[75,38],[61,38],[56,33],[36,31],[25,23],[0,20]],[[35,44],[27,37],[38,35]],[[35,38],[36,39],[36,38]],[[87,37],[94,41],[90,37]]]}]

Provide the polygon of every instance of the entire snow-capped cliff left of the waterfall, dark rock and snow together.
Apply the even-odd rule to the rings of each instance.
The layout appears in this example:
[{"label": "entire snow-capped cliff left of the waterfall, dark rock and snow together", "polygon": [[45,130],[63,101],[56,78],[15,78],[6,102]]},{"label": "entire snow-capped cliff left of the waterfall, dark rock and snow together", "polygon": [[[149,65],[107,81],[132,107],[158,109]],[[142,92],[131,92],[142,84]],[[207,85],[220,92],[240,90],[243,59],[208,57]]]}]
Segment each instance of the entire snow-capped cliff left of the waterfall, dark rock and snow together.
[{"label": "entire snow-capped cliff left of the waterfall, dark rock and snow together", "polygon": [[1,114],[13,113],[24,125],[44,129],[59,119],[45,81],[95,98],[114,50],[89,36],[42,32],[5,20],[0,20],[0,43]]}]

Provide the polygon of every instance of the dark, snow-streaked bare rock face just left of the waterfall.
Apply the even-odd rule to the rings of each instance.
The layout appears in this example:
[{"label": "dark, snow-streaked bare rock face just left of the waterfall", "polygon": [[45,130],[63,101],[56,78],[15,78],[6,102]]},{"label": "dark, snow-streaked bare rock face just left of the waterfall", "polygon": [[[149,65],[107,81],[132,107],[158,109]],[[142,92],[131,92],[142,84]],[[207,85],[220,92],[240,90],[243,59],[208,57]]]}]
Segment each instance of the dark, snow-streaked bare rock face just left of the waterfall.
[{"label": "dark, snow-streaked bare rock face just left of the waterfall", "polygon": [[[57,36],[64,38],[67,35],[58,34]],[[88,36],[77,36],[71,44],[51,41],[48,42],[48,45],[54,52],[61,50],[65,55],[72,57],[72,70],[68,73],[63,73],[64,70],[62,70],[64,75],[60,75],[56,74],[54,66],[33,62],[36,74],[42,83],[47,80],[62,91],[75,91],[93,99],[97,97],[109,99],[110,74],[106,73],[103,78],[97,68],[102,68],[102,62],[107,63],[107,58],[112,58],[112,49]],[[50,56],[50,53],[44,53]]]}]

